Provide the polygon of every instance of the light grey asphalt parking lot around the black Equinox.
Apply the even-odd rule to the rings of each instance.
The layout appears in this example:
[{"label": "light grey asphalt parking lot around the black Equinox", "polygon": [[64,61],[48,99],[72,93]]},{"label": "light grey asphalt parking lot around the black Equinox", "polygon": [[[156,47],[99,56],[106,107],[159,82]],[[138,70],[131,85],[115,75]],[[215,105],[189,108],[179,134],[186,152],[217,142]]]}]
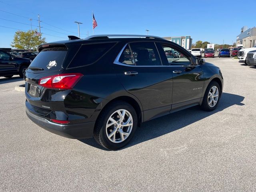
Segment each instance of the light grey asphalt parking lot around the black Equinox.
[{"label": "light grey asphalt parking lot around the black Equinox", "polygon": [[206,62],[224,76],[218,108],[146,122],[118,151],[36,126],[14,90],[24,81],[0,78],[0,191],[256,191],[256,68]]}]

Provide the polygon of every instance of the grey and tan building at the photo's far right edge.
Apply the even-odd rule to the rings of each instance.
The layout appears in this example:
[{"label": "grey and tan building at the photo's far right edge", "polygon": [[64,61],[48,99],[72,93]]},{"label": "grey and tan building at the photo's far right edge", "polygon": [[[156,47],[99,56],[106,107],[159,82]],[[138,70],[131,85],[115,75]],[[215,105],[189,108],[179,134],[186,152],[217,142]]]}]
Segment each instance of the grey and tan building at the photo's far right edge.
[{"label": "grey and tan building at the photo's far right edge", "polygon": [[244,48],[256,46],[256,27],[243,26],[241,33],[236,36],[236,44],[243,44]]}]

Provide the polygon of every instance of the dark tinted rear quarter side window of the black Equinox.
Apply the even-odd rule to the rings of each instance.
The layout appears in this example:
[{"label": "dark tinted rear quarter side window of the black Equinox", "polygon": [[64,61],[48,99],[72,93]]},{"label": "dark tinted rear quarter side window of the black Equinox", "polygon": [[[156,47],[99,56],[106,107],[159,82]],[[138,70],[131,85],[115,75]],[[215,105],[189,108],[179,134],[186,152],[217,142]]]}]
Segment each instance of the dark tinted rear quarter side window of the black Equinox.
[{"label": "dark tinted rear quarter side window of the black Equinox", "polygon": [[89,65],[100,59],[115,43],[82,45],[68,68]]}]

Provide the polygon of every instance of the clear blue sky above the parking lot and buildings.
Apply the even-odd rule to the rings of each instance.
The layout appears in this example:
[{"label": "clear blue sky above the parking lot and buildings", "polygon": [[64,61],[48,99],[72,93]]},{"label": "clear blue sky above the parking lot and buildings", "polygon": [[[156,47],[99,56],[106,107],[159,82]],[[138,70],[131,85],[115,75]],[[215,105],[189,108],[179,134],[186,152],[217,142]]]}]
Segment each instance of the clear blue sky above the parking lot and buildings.
[{"label": "clear blue sky above the parking lot and buildings", "polygon": [[0,0],[0,47],[10,47],[16,31],[10,28],[30,30],[28,18],[33,19],[32,28],[38,28],[38,14],[47,42],[78,36],[74,21],[83,23],[80,36],[85,38],[87,31],[92,35],[92,11],[98,23],[94,34],[146,34],[148,29],[154,36],[190,35],[193,43],[232,44],[242,26],[256,26],[256,0],[241,4],[240,0]]}]

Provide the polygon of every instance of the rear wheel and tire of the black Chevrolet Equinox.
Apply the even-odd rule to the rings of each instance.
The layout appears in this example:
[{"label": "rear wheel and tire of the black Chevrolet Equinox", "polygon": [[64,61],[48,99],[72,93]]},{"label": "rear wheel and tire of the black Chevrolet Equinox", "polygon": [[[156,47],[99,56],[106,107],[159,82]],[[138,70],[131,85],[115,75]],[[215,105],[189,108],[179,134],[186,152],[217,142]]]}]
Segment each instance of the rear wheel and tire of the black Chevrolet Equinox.
[{"label": "rear wheel and tire of the black Chevrolet Equinox", "polygon": [[[124,114],[123,120],[118,112]],[[126,123],[132,125],[123,126]],[[94,139],[98,144],[109,150],[120,149],[130,142],[137,124],[136,111],[130,104],[122,101],[114,102],[104,108],[98,117],[94,127]]]}]

